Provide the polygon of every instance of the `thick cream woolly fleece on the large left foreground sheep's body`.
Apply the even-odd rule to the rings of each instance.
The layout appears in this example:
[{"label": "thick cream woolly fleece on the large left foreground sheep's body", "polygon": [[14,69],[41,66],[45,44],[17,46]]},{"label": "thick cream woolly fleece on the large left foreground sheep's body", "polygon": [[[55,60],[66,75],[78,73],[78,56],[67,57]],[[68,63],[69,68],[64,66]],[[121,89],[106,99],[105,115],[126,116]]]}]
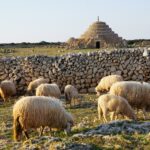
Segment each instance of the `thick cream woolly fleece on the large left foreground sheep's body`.
[{"label": "thick cream woolly fleece on the large left foreground sheep's body", "polygon": [[65,111],[58,99],[44,96],[30,96],[21,98],[13,108],[13,117],[19,121],[25,129],[50,126],[64,128],[68,121],[66,116],[71,117]]}]

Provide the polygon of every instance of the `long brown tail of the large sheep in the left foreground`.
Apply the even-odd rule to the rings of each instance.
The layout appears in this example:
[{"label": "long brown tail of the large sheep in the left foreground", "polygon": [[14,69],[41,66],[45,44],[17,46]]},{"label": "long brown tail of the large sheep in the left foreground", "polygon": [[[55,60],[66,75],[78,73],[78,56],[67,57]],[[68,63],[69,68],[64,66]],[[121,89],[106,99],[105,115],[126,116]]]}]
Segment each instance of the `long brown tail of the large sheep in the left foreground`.
[{"label": "long brown tail of the large sheep in the left foreground", "polygon": [[14,140],[18,141],[19,136],[22,135],[22,127],[21,127],[20,122],[19,122],[19,116],[14,119],[13,132],[14,132]]}]

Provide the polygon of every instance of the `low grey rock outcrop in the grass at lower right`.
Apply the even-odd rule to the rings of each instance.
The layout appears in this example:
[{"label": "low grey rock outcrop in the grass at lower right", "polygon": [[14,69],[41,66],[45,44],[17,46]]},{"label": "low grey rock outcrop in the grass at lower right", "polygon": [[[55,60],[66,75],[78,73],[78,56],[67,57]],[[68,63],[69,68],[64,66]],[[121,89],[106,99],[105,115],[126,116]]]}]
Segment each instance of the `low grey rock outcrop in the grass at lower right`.
[{"label": "low grey rock outcrop in the grass at lower right", "polygon": [[95,129],[91,129],[84,133],[73,135],[76,137],[91,137],[91,136],[104,136],[116,134],[148,134],[150,133],[150,122],[136,122],[136,121],[112,121],[108,124],[101,124]]}]

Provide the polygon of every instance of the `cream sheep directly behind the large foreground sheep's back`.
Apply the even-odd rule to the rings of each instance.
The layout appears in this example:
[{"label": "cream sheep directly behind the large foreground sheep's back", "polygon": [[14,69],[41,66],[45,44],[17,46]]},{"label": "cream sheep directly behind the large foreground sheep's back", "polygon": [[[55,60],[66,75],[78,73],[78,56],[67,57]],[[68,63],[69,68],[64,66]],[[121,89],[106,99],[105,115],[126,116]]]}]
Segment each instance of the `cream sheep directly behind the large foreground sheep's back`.
[{"label": "cream sheep directly behind the large foreground sheep's back", "polygon": [[41,84],[36,89],[36,96],[51,96],[55,98],[60,98],[61,91],[57,84]]}]

